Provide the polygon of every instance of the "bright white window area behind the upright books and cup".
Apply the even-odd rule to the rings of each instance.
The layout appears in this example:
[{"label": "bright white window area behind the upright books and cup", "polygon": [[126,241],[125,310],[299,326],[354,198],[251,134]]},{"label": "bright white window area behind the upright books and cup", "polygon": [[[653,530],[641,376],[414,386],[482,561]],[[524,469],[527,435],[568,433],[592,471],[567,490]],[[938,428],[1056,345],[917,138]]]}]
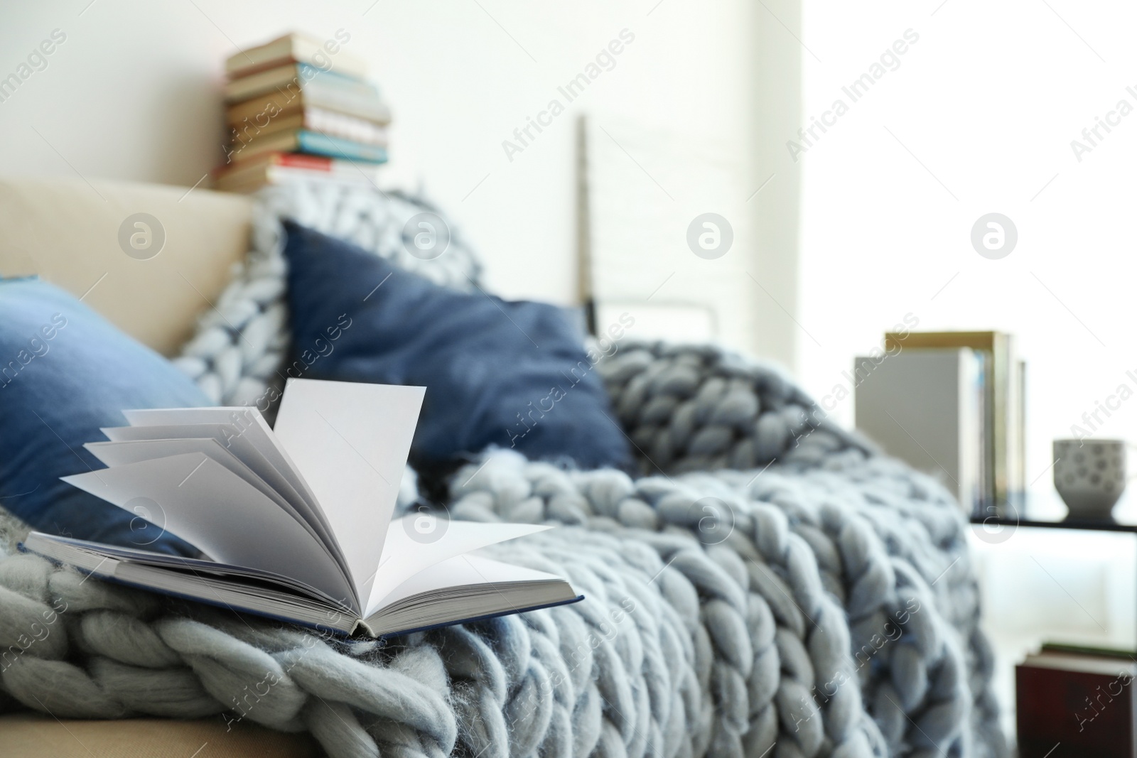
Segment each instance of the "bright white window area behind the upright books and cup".
[{"label": "bright white window area behind the upright books and cup", "polygon": [[[1081,130],[1137,97],[1132,3],[928,0],[806,3],[805,111],[849,110],[804,166],[802,376],[818,395],[905,314],[919,328],[1006,330],[1028,361],[1027,481],[1061,518],[1051,441],[1137,382],[1132,208],[1137,116],[1081,160]],[[919,34],[862,99],[841,90],[906,30]],[[1115,118],[1115,117],[1114,117]],[[794,138],[787,134],[783,140]],[[1019,241],[981,257],[976,220],[1002,213]],[[1128,397],[1128,395],[1127,395]],[[1118,398],[1112,400],[1119,405]],[[853,399],[835,416],[853,420]],[[1137,401],[1102,438],[1137,435]],[[1130,467],[1132,466],[1130,458]],[[1119,506],[1137,517],[1137,486]],[[1132,535],[974,527],[998,691],[1044,640],[1134,644]],[[1009,727],[1013,711],[1005,711]]]}]

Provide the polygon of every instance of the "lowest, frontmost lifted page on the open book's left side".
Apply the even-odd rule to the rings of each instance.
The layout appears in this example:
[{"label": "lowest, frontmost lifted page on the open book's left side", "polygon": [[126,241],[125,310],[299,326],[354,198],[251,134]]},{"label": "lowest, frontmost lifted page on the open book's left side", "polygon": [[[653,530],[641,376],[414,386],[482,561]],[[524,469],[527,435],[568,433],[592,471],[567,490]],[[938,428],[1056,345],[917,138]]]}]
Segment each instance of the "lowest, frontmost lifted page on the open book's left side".
[{"label": "lowest, frontmost lifted page on the open book's left side", "polygon": [[[139,498],[158,509],[151,523],[225,564],[263,568],[358,606],[358,595],[319,541],[276,503],[208,456],[143,460],[63,481],[133,511]],[[164,522],[164,523],[161,523]],[[143,545],[144,547],[144,545]]]}]

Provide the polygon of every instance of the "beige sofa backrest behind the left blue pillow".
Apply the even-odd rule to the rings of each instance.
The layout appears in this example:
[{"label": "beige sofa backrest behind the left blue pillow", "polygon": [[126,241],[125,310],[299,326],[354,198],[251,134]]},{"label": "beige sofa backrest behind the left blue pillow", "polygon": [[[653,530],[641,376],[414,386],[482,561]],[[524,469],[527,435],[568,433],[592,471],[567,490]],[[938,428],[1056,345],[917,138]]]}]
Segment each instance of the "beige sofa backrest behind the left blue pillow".
[{"label": "beige sofa backrest behind the left blue pillow", "polygon": [[[249,244],[249,198],[188,190],[0,177],[0,275],[39,274],[85,293],[83,302],[125,332],[174,355]],[[124,227],[134,214],[149,214],[160,228],[149,219]],[[161,250],[148,257],[163,232]]]}]

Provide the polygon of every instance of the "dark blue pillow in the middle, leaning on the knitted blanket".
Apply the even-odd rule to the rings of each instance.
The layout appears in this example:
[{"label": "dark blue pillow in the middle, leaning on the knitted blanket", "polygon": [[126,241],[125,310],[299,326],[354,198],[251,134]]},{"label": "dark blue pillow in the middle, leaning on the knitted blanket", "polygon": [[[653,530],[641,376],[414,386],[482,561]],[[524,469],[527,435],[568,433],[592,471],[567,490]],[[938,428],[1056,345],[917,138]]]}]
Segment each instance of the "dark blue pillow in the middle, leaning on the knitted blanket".
[{"label": "dark blue pillow in the middle, leaning on the knitted blanket", "polygon": [[287,223],[289,376],[426,388],[417,466],[489,444],[626,468],[631,456],[578,330],[555,306],[439,286]]}]

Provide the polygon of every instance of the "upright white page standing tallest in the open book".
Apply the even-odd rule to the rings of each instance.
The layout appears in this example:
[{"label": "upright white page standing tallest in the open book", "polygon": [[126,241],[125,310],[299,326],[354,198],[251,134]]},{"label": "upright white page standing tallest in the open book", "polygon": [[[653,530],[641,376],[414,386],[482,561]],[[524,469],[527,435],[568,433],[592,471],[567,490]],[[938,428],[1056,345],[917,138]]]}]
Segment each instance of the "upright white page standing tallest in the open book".
[{"label": "upright white page standing tallest in the open book", "polygon": [[425,388],[290,378],[274,432],[371,597]]}]

